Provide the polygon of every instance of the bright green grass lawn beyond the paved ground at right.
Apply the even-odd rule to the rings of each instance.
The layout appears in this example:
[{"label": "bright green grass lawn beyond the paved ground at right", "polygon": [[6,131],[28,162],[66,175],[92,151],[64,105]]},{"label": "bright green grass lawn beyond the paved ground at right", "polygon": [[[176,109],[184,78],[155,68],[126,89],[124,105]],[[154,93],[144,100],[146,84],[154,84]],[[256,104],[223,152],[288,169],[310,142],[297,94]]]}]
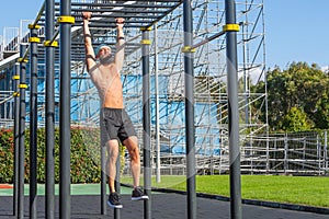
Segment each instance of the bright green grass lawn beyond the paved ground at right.
[{"label": "bright green grass lawn beyond the paved ground at right", "polygon": [[[133,184],[131,177],[122,177],[123,183]],[[141,182],[143,183],[143,182]],[[161,176],[152,187],[186,189],[186,176]],[[228,175],[197,175],[196,192],[229,196]],[[283,176],[283,175],[242,175],[241,194],[243,199],[270,200],[285,204],[299,204],[329,207],[329,177],[324,176]]]}]

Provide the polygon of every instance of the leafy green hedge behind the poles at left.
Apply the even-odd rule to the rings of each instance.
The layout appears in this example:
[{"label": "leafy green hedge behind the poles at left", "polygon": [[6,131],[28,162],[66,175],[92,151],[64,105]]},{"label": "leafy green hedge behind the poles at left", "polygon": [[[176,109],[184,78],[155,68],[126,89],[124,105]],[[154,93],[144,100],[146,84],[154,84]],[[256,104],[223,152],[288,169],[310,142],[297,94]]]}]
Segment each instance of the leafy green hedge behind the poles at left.
[{"label": "leafy green hedge behind the poles at left", "polygon": [[[71,128],[71,183],[98,183],[101,177],[100,130]],[[37,130],[37,182],[45,183],[46,135]],[[122,150],[124,152],[124,150]],[[12,129],[0,130],[0,183],[13,183],[14,139]],[[55,182],[59,182],[59,130],[55,130]],[[30,131],[25,131],[25,183],[30,177]],[[122,157],[124,159],[124,157]],[[122,163],[124,163],[122,161]]]}]

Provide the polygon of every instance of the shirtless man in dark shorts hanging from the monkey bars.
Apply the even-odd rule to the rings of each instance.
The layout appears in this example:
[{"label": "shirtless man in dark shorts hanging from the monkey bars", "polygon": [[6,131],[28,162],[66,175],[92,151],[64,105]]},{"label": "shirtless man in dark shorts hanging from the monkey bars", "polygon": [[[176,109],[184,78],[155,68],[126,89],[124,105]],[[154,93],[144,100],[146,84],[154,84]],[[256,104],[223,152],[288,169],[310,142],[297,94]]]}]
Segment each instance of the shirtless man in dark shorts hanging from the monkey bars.
[{"label": "shirtless man in dark shorts hanging from the monkey bars", "polygon": [[91,33],[89,30],[89,21],[91,12],[82,12],[83,34],[86,47],[87,70],[92,82],[99,91],[102,103],[103,119],[106,129],[107,148],[107,183],[110,187],[110,196],[107,205],[113,208],[122,208],[120,203],[120,194],[115,191],[116,160],[120,155],[118,140],[126,146],[131,155],[131,170],[134,180],[134,189],[132,200],[148,199],[144,195],[139,186],[140,177],[140,157],[137,145],[137,136],[132,124],[132,120],[124,108],[123,88],[121,82],[120,71],[124,64],[124,19],[116,19],[116,53],[112,58],[111,48],[105,45],[99,46],[95,54],[92,47]]}]

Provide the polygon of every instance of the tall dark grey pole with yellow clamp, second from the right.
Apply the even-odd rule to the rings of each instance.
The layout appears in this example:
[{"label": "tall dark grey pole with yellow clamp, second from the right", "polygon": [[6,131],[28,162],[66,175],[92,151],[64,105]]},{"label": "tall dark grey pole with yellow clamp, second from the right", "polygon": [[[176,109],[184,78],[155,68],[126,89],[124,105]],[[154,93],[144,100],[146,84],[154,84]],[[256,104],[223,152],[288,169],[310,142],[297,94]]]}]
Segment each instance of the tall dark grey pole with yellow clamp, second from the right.
[{"label": "tall dark grey pole with yellow clamp, second from the right", "polygon": [[185,134],[186,134],[186,188],[188,188],[188,218],[196,218],[195,194],[195,130],[194,130],[194,55],[193,45],[193,14],[192,1],[184,0],[184,71],[185,71]]}]

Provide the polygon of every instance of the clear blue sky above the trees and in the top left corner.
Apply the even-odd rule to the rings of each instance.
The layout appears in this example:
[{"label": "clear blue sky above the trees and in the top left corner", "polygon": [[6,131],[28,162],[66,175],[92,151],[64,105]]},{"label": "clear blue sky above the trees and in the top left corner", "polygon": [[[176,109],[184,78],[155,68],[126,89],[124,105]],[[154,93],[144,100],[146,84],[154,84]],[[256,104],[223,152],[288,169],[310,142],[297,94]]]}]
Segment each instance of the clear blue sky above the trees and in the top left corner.
[{"label": "clear blue sky above the trees and in the top left corner", "polygon": [[[44,0],[2,1],[3,27],[35,20]],[[266,66],[285,69],[292,61],[329,66],[329,0],[264,0]]]}]

